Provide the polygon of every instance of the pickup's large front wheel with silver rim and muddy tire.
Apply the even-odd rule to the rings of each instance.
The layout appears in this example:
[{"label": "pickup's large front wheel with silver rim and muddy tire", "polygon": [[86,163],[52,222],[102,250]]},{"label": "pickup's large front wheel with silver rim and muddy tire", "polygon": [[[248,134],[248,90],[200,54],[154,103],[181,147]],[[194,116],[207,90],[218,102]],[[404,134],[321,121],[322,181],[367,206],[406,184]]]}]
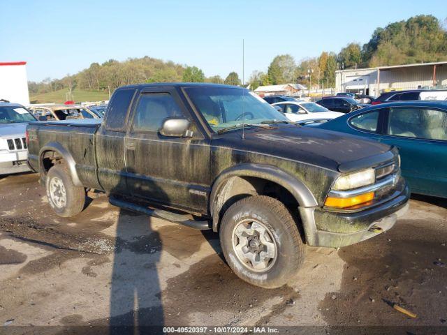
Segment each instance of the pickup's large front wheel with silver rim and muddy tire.
[{"label": "pickup's large front wheel with silver rim and muddy tire", "polygon": [[[261,288],[286,284],[305,259],[305,245],[296,221],[284,204],[274,198],[257,195],[235,202],[223,215],[219,233],[223,255],[231,269],[242,280]],[[254,265],[246,255],[256,253]],[[261,254],[268,256],[257,262]]]}]

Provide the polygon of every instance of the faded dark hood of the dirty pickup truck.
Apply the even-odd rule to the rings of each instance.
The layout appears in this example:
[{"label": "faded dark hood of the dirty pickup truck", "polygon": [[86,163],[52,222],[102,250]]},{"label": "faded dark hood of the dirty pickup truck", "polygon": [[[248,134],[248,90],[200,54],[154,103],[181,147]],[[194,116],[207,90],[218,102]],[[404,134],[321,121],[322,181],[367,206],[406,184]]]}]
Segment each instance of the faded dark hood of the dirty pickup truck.
[{"label": "faded dark hood of the dirty pickup truck", "polygon": [[224,142],[235,149],[279,156],[335,171],[339,165],[361,161],[390,150],[386,144],[363,140],[362,137],[300,126],[251,128],[245,130],[243,140],[242,131],[232,133],[229,137],[231,144],[227,139]]}]

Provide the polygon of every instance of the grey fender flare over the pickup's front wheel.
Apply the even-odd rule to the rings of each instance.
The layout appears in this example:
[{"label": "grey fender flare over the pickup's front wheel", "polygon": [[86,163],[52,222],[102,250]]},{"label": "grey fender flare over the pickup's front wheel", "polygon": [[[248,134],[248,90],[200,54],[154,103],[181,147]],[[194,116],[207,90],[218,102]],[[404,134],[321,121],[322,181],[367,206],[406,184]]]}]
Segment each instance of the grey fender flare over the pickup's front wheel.
[{"label": "grey fender flare over the pickup's front wheel", "polygon": [[263,165],[263,164],[253,164],[244,163],[232,168],[223,170],[219,177],[214,181],[212,186],[212,191],[210,193],[210,214],[212,216],[212,228],[217,231],[217,225],[219,223],[219,211],[221,210],[221,205],[219,207],[219,193],[222,191],[223,186],[226,184],[231,177],[256,177],[272,181],[280,186],[286,188],[293,197],[297,200],[300,207],[315,207],[318,206],[312,192],[307,188],[307,186],[293,177],[291,174],[280,170],[273,165]]}]

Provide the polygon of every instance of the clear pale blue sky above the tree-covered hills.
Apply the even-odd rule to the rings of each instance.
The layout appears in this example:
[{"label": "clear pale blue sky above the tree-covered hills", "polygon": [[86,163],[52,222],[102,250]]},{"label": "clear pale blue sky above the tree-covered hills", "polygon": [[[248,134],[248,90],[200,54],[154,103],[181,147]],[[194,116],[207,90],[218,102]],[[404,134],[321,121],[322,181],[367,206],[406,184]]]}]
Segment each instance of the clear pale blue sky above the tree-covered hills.
[{"label": "clear pale blue sky above the tree-covered hills", "polygon": [[277,54],[300,61],[338,52],[413,15],[444,20],[446,8],[445,0],[5,1],[0,61],[27,61],[29,80],[37,81],[145,55],[226,77],[242,75],[243,38],[247,78]]}]

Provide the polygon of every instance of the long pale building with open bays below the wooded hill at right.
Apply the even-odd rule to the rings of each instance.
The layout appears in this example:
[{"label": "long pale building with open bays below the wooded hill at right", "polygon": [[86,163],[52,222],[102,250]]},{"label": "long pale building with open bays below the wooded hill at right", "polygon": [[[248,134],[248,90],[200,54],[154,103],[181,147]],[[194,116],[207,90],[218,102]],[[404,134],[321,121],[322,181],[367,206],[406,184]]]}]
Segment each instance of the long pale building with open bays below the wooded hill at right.
[{"label": "long pale building with open bays below the wooded hill at right", "polygon": [[447,87],[447,61],[335,71],[337,92],[379,96],[384,91]]}]

